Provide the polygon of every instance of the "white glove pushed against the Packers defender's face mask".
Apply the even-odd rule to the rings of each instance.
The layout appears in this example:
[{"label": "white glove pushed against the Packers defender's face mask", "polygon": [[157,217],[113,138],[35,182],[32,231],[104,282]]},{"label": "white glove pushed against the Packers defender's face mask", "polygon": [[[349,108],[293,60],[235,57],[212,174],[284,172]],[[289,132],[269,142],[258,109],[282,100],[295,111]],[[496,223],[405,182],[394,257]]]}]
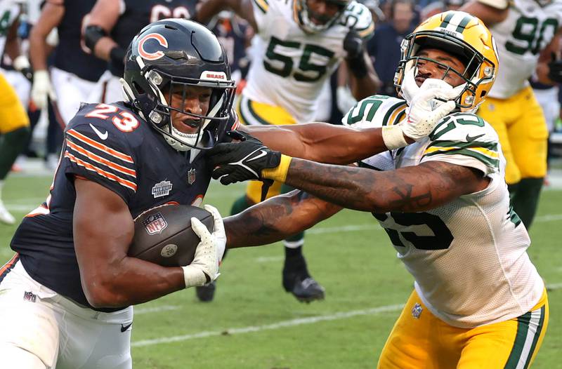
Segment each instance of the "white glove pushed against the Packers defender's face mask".
[{"label": "white glove pushed against the Packers defender's face mask", "polygon": [[[427,137],[444,116],[455,109],[458,91],[442,79],[426,79],[412,97],[406,118],[396,126],[383,127],[382,137],[388,149],[407,146],[404,135],[419,141]],[[446,102],[436,100],[441,98]],[[399,128],[399,129],[398,129]]]}]

